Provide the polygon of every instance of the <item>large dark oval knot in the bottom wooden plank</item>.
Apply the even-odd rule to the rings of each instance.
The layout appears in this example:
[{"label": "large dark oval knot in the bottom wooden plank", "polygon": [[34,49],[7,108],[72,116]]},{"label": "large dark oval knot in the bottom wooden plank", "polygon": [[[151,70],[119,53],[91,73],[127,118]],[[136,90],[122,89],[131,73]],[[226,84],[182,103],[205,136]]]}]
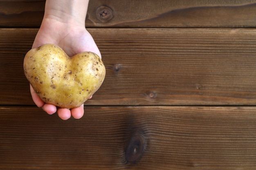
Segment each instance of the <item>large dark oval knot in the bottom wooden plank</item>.
[{"label": "large dark oval knot in the bottom wooden plank", "polygon": [[146,148],[146,139],[143,134],[135,134],[131,137],[126,148],[125,158],[127,162],[136,162],[142,157]]}]

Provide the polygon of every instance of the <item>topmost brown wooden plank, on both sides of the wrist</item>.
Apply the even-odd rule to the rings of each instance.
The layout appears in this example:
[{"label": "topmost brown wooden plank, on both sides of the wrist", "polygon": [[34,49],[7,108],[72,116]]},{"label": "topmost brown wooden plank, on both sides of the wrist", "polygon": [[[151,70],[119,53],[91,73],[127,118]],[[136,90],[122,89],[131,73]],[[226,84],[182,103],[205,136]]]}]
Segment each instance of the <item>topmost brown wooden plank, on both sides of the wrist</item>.
[{"label": "topmost brown wooden plank, on both sides of the wrist", "polygon": [[[0,27],[40,27],[44,4],[45,0],[0,0]],[[103,11],[108,11],[104,17]],[[256,27],[256,0],[92,0],[85,24],[86,27]]]}]

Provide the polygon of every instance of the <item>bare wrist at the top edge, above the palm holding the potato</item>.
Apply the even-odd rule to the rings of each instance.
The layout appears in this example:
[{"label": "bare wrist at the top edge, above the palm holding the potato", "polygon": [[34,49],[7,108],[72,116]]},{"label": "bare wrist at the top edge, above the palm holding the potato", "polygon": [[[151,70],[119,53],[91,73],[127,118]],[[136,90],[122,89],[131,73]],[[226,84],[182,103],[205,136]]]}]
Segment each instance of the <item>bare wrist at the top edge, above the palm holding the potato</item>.
[{"label": "bare wrist at the top edge, above the palm holding the potato", "polygon": [[46,0],[44,19],[85,27],[89,0]]}]

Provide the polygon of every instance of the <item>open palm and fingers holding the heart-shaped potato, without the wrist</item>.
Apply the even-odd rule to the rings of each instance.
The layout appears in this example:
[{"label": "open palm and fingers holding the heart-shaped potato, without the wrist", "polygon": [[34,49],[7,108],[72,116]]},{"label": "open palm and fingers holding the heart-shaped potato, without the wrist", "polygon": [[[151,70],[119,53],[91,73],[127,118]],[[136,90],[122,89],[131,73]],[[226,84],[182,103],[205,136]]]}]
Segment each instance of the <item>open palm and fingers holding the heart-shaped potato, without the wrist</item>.
[{"label": "open palm and fingers holding the heart-shaped potato, without the wrist", "polygon": [[[44,18],[36,35],[32,48],[52,43],[61,47],[68,56],[74,56],[82,51],[92,51],[101,57],[100,51],[90,33],[84,25],[65,23],[53,18]],[[80,119],[84,114],[83,105],[71,110],[57,108],[55,105],[44,103],[30,85],[31,96],[38,107],[42,107],[48,114],[58,113],[58,116],[67,120],[71,115]]]}]

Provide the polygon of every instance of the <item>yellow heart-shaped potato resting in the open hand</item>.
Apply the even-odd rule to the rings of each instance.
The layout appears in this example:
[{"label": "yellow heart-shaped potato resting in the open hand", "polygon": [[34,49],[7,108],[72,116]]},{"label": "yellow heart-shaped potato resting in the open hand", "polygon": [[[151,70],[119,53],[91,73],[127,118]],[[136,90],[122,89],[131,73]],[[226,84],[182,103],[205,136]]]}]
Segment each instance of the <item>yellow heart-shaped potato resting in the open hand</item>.
[{"label": "yellow heart-shaped potato resting in the open hand", "polygon": [[81,52],[69,57],[54,44],[29,50],[23,67],[27,80],[45,103],[68,109],[79,107],[92,96],[106,74],[97,54]]}]

